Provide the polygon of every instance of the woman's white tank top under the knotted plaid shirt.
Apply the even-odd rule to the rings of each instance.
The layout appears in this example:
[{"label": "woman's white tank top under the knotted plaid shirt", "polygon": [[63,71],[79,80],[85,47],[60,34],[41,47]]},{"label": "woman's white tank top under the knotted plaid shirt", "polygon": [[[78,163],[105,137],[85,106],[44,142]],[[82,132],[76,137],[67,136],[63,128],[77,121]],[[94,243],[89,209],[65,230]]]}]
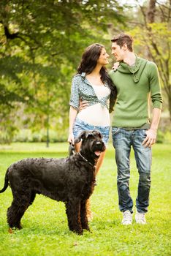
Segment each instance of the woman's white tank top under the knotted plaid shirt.
[{"label": "woman's white tank top under the knotted plaid shirt", "polygon": [[[101,99],[110,94],[110,89],[107,86],[92,86],[96,97]],[[109,110],[102,106],[100,103],[88,106],[87,108],[81,110],[77,117],[85,121],[88,124],[98,126],[98,127],[108,127],[110,126],[110,114]]]}]

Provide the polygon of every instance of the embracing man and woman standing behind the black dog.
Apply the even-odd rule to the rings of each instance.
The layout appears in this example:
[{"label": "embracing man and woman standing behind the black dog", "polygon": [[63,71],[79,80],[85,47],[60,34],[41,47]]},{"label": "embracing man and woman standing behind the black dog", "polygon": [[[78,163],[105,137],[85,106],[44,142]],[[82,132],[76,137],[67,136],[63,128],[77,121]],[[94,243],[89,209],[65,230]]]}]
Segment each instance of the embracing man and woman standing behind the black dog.
[{"label": "embracing man and woman standing behind the black dog", "polygon": [[[83,130],[98,129],[107,145],[109,112],[115,105],[112,136],[118,167],[118,201],[123,213],[122,224],[132,224],[133,201],[129,193],[131,147],[139,172],[135,220],[145,224],[151,188],[151,146],[156,142],[162,104],[159,73],[156,64],[134,53],[131,36],[122,33],[111,41],[112,54],[118,64],[114,65],[109,75],[105,69],[109,55],[103,45],[95,43],[83,53],[77,75],[72,80],[68,141],[74,143]],[[149,97],[153,104],[152,121],[148,116]],[[80,143],[75,148],[79,151]],[[99,157],[96,173],[102,165],[104,154]]]}]

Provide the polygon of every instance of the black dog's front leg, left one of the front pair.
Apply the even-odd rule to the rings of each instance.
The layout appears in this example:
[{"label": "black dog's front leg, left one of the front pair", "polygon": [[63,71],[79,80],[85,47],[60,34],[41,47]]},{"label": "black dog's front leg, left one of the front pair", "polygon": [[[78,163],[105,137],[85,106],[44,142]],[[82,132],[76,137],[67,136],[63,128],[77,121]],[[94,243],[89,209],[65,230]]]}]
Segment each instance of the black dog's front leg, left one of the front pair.
[{"label": "black dog's front leg, left one of the front pair", "polygon": [[83,234],[83,228],[80,222],[80,200],[72,198],[65,203],[66,215],[68,218],[69,230],[77,233],[78,235]]}]

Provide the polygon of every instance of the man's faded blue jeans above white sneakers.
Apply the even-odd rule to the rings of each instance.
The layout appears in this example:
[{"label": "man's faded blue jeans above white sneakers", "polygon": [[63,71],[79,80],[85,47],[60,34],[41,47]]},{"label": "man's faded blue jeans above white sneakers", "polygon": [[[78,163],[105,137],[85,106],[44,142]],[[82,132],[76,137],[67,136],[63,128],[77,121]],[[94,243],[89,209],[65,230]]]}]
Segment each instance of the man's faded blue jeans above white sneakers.
[{"label": "man's faded blue jeans above white sneakers", "polygon": [[112,135],[115,160],[118,167],[119,208],[121,211],[129,210],[132,212],[133,201],[129,192],[129,157],[132,147],[139,172],[136,206],[138,212],[144,213],[148,211],[151,188],[151,148],[142,146],[142,141],[146,137],[145,129],[126,130],[113,127]]}]

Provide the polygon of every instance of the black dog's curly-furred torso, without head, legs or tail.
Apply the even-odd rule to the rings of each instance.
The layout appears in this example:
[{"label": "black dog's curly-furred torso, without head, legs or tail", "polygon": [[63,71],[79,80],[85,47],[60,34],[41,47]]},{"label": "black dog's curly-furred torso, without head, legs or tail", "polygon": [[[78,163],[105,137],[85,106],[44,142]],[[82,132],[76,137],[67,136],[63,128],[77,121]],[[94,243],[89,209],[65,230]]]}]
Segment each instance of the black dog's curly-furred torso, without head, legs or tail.
[{"label": "black dog's curly-furred torso, without head, legs or tail", "polygon": [[[83,165],[75,154],[62,159],[28,158],[9,167],[8,179],[12,190],[29,188],[54,200],[66,201],[70,194],[81,193],[94,182],[94,170]],[[76,192],[77,190],[77,192]]]}]

